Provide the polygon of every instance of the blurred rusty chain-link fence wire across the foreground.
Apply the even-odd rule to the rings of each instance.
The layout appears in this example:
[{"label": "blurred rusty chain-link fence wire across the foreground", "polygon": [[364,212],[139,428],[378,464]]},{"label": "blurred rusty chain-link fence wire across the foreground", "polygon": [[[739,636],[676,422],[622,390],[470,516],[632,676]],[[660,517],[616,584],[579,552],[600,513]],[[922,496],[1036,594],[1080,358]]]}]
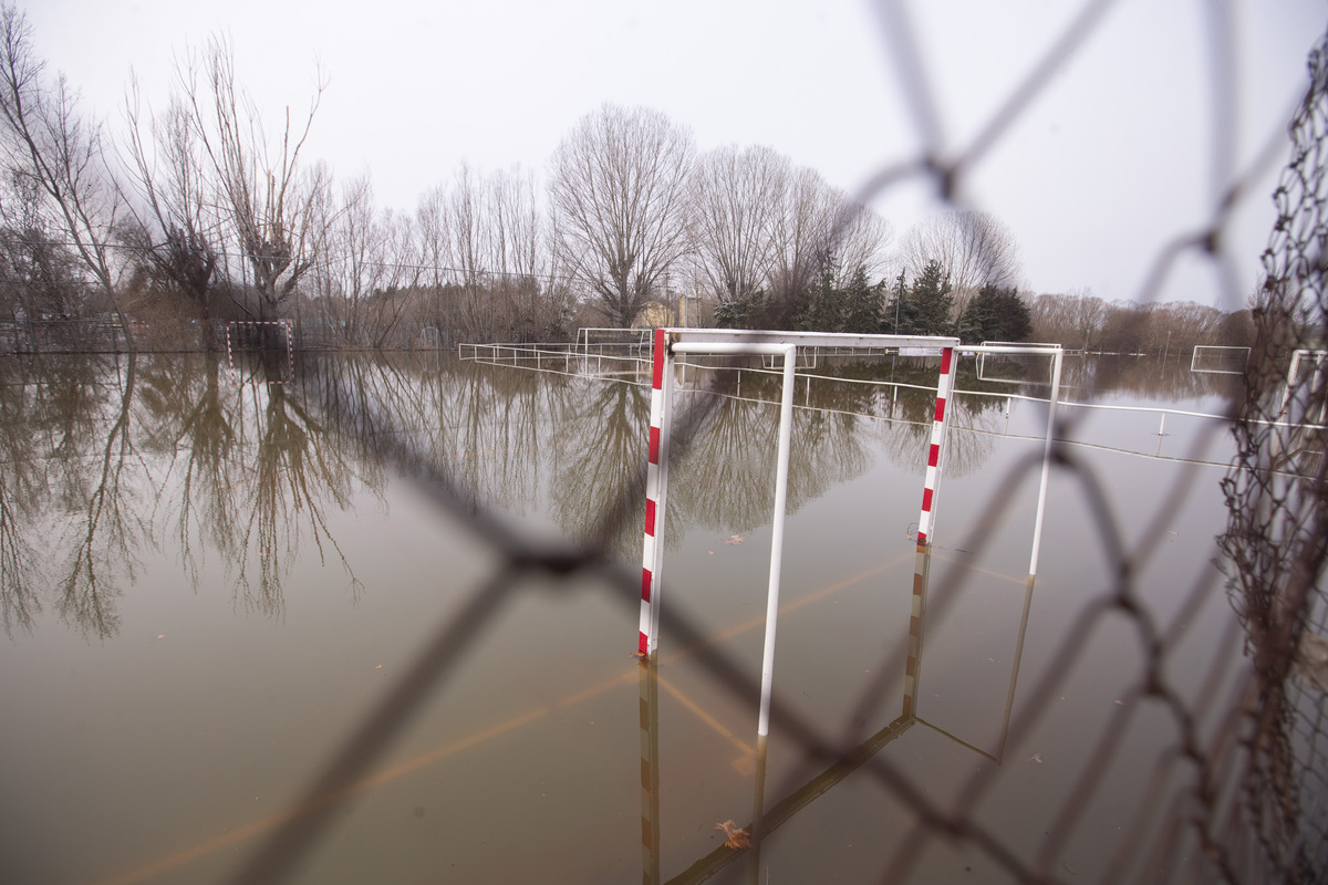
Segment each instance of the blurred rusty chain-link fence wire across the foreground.
[{"label": "blurred rusty chain-link fence wire across the foreground", "polygon": [[[942,194],[955,198],[965,175],[1008,137],[1012,125],[1072,60],[1100,27],[1114,4],[1093,0],[1082,5],[1062,36],[1032,66],[1020,84],[964,150],[943,155],[939,143],[938,111],[930,98],[926,65],[912,37],[906,9],[900,3],[876,4],[888,54],[899,65],[899,81],[908,97],[912,125],[924,149],[912,159],[883,169],[858,194],[869,200],[902,182],[924,178]],[[1232,13],[1226,4],[1206,7],[1215,58],[1212,81],[1227,82],[1222,68],[1223,46],[1232,32]],[[1264,257],[1267,284],[1255,314],[1258,340],[1250,360],[1248,395],[1234,414],[1238,455],[1223,482],[1230,517],[1218,541],[1218,553],[1227,576],[1226,585],[1214,585],[1207,573],[1197,572],[1179,609],[1167,617],[1155,614],[1141,597],[1135,577],[1155,555],[1163,533],[1161,527],[1179,511],[1199,482],[1193,466],[1182,464],[1166,503],[1145,523],[1151,531],[1142,540],[1129,540],[1096,475],[1080,454],[1056,444],[1056,470],[1070,480],[1074,494],[1093,513],[1096,545],[1109,564],[1104,585],[1076,616],[1053,650],[1049,666],[1037,677],[1017,714],[1009,722],[1009,738],[1029,731],[1046,715],[1066,671],[1085,645],[1110,621],[1125,618],[1137,637],[1138,679],[1125,698],[1127,710],[1147,702],[1163,711],[1173,726],[1174,742],[1159,756],[1153,792],[1133,811],[1129,831],[1108,869],[1097,881],[1189,881],[1189,882],[1315,882],[1328,876],[1328,612],[1325,612],[1323,571],[1328,556],[1328,507],[1325,507],[1324,405],[1328,403],[1328,372],[1319,370],[1328,328],[1328,300],[1324,292],[1324,245],[1328,241],[1324,180],[1328,151],[1328,58],[1325,44],[1317,44],[1309,58],[1309,89],[1292,125],[1292,161],[1276,191],[1279,220]],[[1230,101],[1230,96],[1219,96]],[[1210,261],[1224,285],[1234,287],[1231,257],[1223,251],[1222,234],[1230,223],[1234,204],[1260,199],[1248,192],[1258,170],[1226,182],[1215,195],[1208,224],[1175,241],[1161,244],[1138,300],[1157,297],[1161,280],[1179,257],[1197,255]],[[1305,369],[1283,393],[1286,361],[1292,352],[1305,352]],[[515,369],[513,369],[515,370]],[[432,463],[413,447],[410,437],[396,427],[393,417],[373,402],[351,395],[335,379],[307,378],[303,393],[316,407],[329,398],[339,401],[343,414],[352,414],[361,443],[372,458],[413,478],[437,508],[453,516],[456,531],[467,531],[498,553],[501,564],[486,581],[471,588],[459,613],[434,628],[424,651],[409,673],[397,681],[381,702],[361,720],[355,734],[333,754],[332,760],[296,804],[303,813],[292,815],[254,852],[235,882],[280,881],[296,869],[300,858],[320,839],[343,811],[349,787],[382,758],[390,740],[402,730],[430,689],[482,641],[485,628],[518,593],[531,592],[523,579],[539,573],[556,579],[543,582],[570,588],[587,576],[607,577],[611,588],[606,604],[635,612],[639,601],[639,575],[616,565],[610,549],[623,527],[639,527],[644,507],[645,466],[604,500],[595,539],[584,545],[558,545],[525,536],[519,529],[485,512],[475,512],[448,472],[446,464]],[[679,407],[673,423],[675,452],[685,451],[704,426],[717,398],[695,397]],[[1076,421],[1062,413],[1057,437],[1065,438]],[[1224,430],[1214,433],[1226,433]],[[1201,443],[1202,447],[1202,443]],[[1195,458],[1198,460],[1198,458]],[[1041,466],[1041,456],[1028,458],[1004,476],[984,504],[979,525],[992,525],[1008,500],[1007,492],[1025,482]],[[964,539],[965,549],[980,549],[987,533]],[[922,555],[922,552],[920,552]],[[922,565],[919,565],[919,569]],[[947,572],[931,588],[928,617],[940,617],[952,604],[964,580],[959,569]],[[1031,590],[1029,590],[1031,592]],[[1173,673],[1175,650],[1187,634],[1191,617],[1226,593],[1236,609],[1238,626],[1244,630],[1246,654],[1231,661],[1214,649],[1199,679],[1198,691],[1182,690]],[[737,695],[754,698],[754,679],[722,650],[701,642],[700,632],[687,618],[665,610],[661,629],[681,644],[699,647],[700,665],[709,675]],[[1239,647],[1239,637],[1232,636]],[[898,673],[907,649],[892,649],[880,673]],[[649,666],[644,662],[643,666]],[[870,685],[858,699],[859,710],[880,710],[887,686],[884,679]],[[972,809],[991,789],[995,768],[968,776],[952,801],[942,801],[922,789],[899,762],[875,754],[872,739],[863,735],[829,732],[781,701],[778,686],[773,720],[781,732],[791,735],[810,760],[826,767],[831,782],[850,771],[874,779],[912,813],[914,832],[902,839],[880,870],[880,881],[903,882],[915,874],[928,845],[938,840],[961,843],[980,852],[1012,880],[1021,882],[1066,881],[1073,870],[1056,864],[1058,851],[1073,837],[1084,809],[1093,803],[1109,778],[1109,770],[1123,752],[1126,732],[1134,714],[1110,720],[1097,735],[1088,764],[1077,772],[1069,799],[1045,812],[1046,828],[1037,852],[1029,856],[1008,844],[977,820]],[[879,740],[878,740],[879,743]],[[1175,784],[1181,784],[1179,788]],[[773,784],[764,819],[753,821],[769,829],[781,815],[791,813],[801,787]],[[703,881],[714,870],[701,862],[688,881]]]}]

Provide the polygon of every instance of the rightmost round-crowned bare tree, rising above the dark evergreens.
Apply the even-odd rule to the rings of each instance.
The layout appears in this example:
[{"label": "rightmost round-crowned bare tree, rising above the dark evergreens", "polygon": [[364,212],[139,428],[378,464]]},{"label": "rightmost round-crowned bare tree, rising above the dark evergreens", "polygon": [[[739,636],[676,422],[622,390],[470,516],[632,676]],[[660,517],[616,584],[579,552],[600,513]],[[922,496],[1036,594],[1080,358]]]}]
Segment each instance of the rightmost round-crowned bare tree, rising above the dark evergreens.
[{"label": "rightmost round-crowned bare tree, rising above the dark evergreens", "polygon": [[899,260],[914,279],[938,261],[950,275],[956,317],[984,285],[1019,285],[1021,273],[1015,234],[988,212],[943,212],[918,222],[899,244]]}]

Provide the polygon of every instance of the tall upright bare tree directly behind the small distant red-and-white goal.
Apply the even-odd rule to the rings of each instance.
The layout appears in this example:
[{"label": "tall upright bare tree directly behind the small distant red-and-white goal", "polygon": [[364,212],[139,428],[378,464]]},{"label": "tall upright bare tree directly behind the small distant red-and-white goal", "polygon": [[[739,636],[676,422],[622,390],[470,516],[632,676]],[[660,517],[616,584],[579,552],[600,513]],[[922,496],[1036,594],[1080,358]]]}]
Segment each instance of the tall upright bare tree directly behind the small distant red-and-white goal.
[{"label": "tall upright bare tree directly behind the small distant red-and-white goal", "polygon": [[230,216],[258,292],[259,312],[276,316],[313,267],[315,222],[329,176],[321,165],[304,163],[300,153],[327,81],[319,78],[303,127],[292,129],[291,110],[286,109],[280,146],[274,149],[258,109],[236,82],[234,52],[226,40],[210,40],[206,53],[191,56],[178,74],[215,175],[218,202]]}]

